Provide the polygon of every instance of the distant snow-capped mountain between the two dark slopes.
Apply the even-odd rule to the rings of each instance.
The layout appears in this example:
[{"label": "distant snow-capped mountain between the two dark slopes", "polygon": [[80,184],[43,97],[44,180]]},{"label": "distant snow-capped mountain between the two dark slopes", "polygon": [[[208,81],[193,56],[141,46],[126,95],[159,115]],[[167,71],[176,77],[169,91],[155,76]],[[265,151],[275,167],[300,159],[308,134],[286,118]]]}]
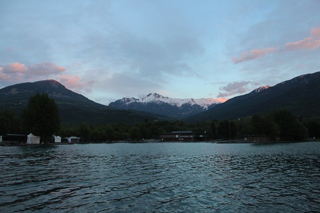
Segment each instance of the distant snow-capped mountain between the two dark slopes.
[{"label": "distant snow-capped mountain between the two dark slopes", "polygon": [[179,99],[169,98],[157,93],[150,93],[143,98],[122,98],[109,104],[118,109],[133,109],[156,114],[183,117],[196,114],[222,103],[223,99],[199,98]]}]

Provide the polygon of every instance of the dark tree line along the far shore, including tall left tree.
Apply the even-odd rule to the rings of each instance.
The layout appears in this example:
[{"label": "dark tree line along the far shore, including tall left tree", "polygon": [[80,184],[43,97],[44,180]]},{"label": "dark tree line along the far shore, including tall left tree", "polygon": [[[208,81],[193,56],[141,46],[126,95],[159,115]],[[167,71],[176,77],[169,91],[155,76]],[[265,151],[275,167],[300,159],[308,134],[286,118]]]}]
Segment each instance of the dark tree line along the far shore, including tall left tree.
[{"label": "dark tree line along the far shore, including tall left tree", "polygon": [[320,137],[319,118],[301,118],[286,109],[278,109],[265,115],[254,114],[235,120],[211,120],[194,124],[176,121],[148,121],[126,125],[60,125],[58,109],[47,94],[36,94],[29,99],[20,117],[11,111],[0,113],[0,135],[32,134],[47,141],[53,134],[63,137],[77,136],[82,142],[139,141],[159,139],[161,133],[192,131],[203,134],[206,140],[243,139],[246,135],[265,135],[273,140],[302,141]]}]

